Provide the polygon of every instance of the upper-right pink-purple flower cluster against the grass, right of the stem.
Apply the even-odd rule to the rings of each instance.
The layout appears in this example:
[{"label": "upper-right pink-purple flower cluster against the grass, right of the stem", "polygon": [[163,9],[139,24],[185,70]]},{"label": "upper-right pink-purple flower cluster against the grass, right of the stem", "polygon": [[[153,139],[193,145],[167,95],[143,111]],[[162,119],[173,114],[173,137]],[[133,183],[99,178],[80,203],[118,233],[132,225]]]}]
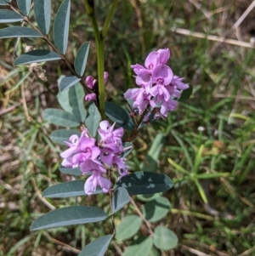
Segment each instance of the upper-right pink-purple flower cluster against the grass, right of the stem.
[{"label": "upper-right pink-purple flower cluster against the grass, right of the stem", "polygon": [[133,100],[133,108],[138,109],[139,116],[150,107],[161,108],[160,114],[156,113],[154,118],[167,117],[168,111],[174,111],[178,105],[174,99],[180,96],[180,90],[189,88],[183,82],[184,78],[174,76],[172,69],[166,65],[169,58],[170,50],[164,48],[151,52],[144,66],[131,65],[139,88],[128,89],[124,97]]}]

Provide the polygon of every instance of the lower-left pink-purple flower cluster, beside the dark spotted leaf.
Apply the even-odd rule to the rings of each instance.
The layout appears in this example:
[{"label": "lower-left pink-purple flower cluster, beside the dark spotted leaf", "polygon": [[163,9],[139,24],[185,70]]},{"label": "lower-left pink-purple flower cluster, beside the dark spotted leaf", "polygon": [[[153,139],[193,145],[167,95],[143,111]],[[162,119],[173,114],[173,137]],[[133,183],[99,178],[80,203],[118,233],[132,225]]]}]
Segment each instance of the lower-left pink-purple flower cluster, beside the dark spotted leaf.
[{"label": "lower-left pink-purple flower cluster, beside the dark spotted leaf", "polygon": [[90,138],[88,130],[84,129],[80,138],[78,135],[72,135],[69,139],[71,142],[65,141],[69,149],[60,154],[64,158],[61,163],[64,167],[79,167],[82,174],[91,174],[84,185],[84,191],[88,195],[91,195],[98,185],[105,193],[111,190],[111,181],[103,176],[106,169],[116,166],[121,176],[127,175],[128,166],[122,157],[124,130],[114,127],[115,123],[110,126],[108,121],[100,122],[99,142]]}]

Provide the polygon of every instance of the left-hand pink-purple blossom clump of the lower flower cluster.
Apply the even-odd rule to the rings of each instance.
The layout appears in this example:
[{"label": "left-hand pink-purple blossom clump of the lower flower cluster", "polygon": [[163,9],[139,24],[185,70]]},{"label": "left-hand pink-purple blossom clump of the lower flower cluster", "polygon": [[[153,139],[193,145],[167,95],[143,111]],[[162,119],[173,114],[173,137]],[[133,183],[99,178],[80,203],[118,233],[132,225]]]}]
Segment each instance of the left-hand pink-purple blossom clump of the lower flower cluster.
[{"label": "left-hand pink-purple blossom clump of the lower flower cluster", "polygon": [[72,135],[69,140],[71,143],[65,141],[65,144],[70,148],[60,154],[64,158],[61,164],[67,168],[77,168],[89,159],[95,160],[100,154],[99,147],[95,145],[96,139],[88,138],[87,131],[82,132],[81,138]]}]

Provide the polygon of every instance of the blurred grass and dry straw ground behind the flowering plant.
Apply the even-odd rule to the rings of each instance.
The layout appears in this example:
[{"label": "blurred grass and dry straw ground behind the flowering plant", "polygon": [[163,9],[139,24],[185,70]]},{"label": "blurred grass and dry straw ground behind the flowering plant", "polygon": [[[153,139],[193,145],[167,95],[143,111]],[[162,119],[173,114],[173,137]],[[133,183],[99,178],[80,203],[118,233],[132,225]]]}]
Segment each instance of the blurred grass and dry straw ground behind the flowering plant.
[{"label": "blurred grass and dry straw ground behind the flowering plant", "polygon": [[[53,2],[54,16],[61,1]],[[86,72],[96,77],[92,29],[82,1],[71,3],[67,56],[74,60],[77,48],[91,41]],[[111,1],[95,3],[98,19],[104,20]],[[173,72],[194,86],[190,100],[166,121],[144,129],[128,162],[139,170],[156,134],[166,134],[157,172],[169,175],[175,185],[164,195],[172,208],[161,224],[179,239],[166,255],[255,255],[255,47],[249,43],[254,43],[255,8],[241,24],[235,23],[251,3],[122,0],[112,21],[105,42],[108,100],[125,104],[122,93],[134,85],[129,66],[143,64],[157,48],[171,49]],[[219,37],[233,40],[222,43]],[[68,70],[58,62],[14,67],[14,54],[47,48],[39,40],[22,39],[17,48],[14,44],[9,39],[0,43],[0,255],[77,255],[82,243],[110,233],[111,224],[104,224],[106,230],[99,223],[30,232],[32,220],[76,200],[105,210],[108,201],[102,195],[42,198],[49,185],[73,179],[59,172],[63,149],[49,139],[54,126],[42,120],[45,108],[58,107],[57,79]],[[190,176],[195,172],[201,174],[199,184]],[[124,208],[120,219],[125,212],[134,209]],[[121,255],[128,244],[112,242],[108,255]]]}]

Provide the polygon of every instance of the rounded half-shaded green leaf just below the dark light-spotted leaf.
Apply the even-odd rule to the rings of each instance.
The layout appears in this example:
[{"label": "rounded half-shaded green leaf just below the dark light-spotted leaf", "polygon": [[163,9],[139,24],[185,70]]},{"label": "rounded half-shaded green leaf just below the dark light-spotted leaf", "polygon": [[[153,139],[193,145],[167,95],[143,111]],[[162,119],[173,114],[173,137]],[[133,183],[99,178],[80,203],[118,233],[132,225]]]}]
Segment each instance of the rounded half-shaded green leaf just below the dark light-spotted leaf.
[{"label": "rounded half-shaded green leaf just below the dark light-spotted leaf", "polygon": [[157,197],[156,199],[144,204],[144,217],[150,222],[156,222],[167,215],[170,207],[171,204],[166,197]]}]

